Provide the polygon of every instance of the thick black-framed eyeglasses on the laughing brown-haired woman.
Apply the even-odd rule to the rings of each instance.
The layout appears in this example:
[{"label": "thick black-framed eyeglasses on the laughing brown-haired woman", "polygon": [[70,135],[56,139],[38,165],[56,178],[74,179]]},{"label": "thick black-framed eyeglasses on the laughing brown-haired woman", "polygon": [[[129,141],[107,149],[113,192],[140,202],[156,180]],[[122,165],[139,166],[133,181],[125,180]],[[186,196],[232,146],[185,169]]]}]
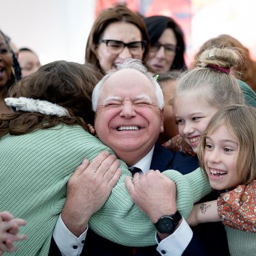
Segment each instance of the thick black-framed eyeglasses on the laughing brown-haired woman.
[{"label": "thick black-framed eyeglasses on the laughing brown-haired woman", "polygon": [[120,54],[120,52],[122,52],[126,46],[131,54],[141,54],[144,52],[146,45],[146,41],[135,41],[125,44],[122,41],[101,39],[99,42],[106,44],[108,52],[112,54]]}]

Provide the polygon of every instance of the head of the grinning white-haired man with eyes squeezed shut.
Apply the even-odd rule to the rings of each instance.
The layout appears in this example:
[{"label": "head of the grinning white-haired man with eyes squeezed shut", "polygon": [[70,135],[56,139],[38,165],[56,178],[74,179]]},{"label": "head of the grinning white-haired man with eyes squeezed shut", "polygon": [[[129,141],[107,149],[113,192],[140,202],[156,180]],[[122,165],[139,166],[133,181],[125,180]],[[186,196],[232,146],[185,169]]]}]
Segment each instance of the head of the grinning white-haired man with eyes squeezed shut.
[{"label": "head of the grinning white-haired man with eyes squeezed shut", "polygon": [[132,166],[152,150],[163,132],[163,99],[157,100],[156,91],[160,92],[147,76],[131,68],[101,84],[93,93],[97,136]]}]

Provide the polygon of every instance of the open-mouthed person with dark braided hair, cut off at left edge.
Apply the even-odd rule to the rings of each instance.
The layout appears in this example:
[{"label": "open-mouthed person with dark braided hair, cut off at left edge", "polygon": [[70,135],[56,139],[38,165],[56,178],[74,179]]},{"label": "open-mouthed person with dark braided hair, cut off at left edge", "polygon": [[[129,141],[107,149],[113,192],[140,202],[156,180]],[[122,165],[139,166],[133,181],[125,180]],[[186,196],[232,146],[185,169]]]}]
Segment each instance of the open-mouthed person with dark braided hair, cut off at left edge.
[{"label": "open-mouthed person with dark braided hair, cut off at left edge", "polygon": [[0,115],[12,112],[4,102],[10,87],[21,78],[17,57],[10,46],[10,38],[0,30]]}]

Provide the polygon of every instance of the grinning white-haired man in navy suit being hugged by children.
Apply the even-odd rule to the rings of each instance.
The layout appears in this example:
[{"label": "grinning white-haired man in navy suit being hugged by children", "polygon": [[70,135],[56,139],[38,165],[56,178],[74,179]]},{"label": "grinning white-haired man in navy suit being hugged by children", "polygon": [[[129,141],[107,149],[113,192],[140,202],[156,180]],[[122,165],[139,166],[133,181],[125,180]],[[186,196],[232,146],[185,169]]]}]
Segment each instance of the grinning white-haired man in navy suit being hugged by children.
[{"label": "grinning white-haired man in navy suit being hugged by children", "polygon": [[[147,212],[152,223],[157,224],[157,235],[163,240],[157,241],[158,246],[138,247],[135,251],[129,246],[108,241],[108,239],[95,234],[90,228],[88,229],[88,221],[84,221],[84,223],[81,221],[84,205],[90,204],[88,196],[79,196],[79,198],[83,198],[83,202],[77,202],[78,196],[73,196],[73,198],[67,196],[66,205],[68,200],[69,202],[73,200],[73,202],[69,204],[69,209],[65,207],[65,211],[61,213],[53,236],[61,254],[80,255],[84,246],[81,255],[149,256],[181,255],[183,252],[184,255],[204,255],[201,254],[202,249],[196,244],[196,239],[191,240],[193,236],[191,229],[176,211],[175,204],[173,207],[170,203],[173,202],[173,195],[171,195],[170,189],[168,190],[164,186],[166,182],[162,180],[163,183],[161,183],[162,181],[159,182],[156,177],[156,180],[151,179],[152,183],[149,188],[147,182],[144,182],[147,177],[158,175],[152,171],[148,172],[150,169],[160,172],[174,169],[181,173],[189,173],[198,167],[196,157],[185,156],[181,152],[170,152],[156,143],[159,133],[163,132],[164,101],[159,84],[147,72],[141,61],[125,60],[119,70],[109,72],[95,86],[92,102],[93,111],[95,111],[95,131],[98,138],[105,145],[111,147],[129,167],[140,168],[141,175],[137,173],[134,175],[136,181],[133,180],[133,184],[139,188],[138,186],[143,181],[146,186],[141,186],[143,193],[136,200],[136,204],[143,209],[143,212]],[[141,182],[138,182],[139,179]],[[92,186],[85,182],[86,180],[82,188],[79,188],[79,184],[73,184],[73,186],[83,193],[84,186]],[[155,186],[156,182],[161,185]],[[128,183],[127,185],[131,188]],[[131,192],[130,189],[129,191]],[[79,211],[79,209],[81,210]],[[82,213],[78,214],[77,212]],[[173,225],[159,222],[163,216],[163,221],[167,221],[166,218],[169,217],[173,218]],[[88,220],[88,216],[84,216],[84,219]],[[77,228],[77,223],[81,223],[83,227]],[[74,234],[72,226],[76,226],[76,230],[84,230],[84,232],[76,232],[78,238],[72,237],[67,230],[68,227]],[[67,233],[68,236],[71,236],[70,239],[67,236],[65,239],[61,238],[63,237],[61,233]],[[84,237],[86,237],[85,241]],[[134,237],[134,239],[136,238]],[[70,245],[68,245],[68,241],[70,241]]]}]

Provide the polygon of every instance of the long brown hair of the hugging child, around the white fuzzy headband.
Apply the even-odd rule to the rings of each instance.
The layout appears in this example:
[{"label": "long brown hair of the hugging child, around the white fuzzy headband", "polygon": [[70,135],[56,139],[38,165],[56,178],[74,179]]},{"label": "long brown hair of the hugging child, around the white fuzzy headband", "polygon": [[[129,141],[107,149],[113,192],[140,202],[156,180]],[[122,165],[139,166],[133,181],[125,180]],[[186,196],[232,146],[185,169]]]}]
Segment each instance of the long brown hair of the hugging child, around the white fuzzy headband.
[{"label": "long brown hair of the hugging child, around the white fuzzy headband", "polygon": [[90,64],[54,61],[40,67],[15,84],[10,96],[47,100],[66,108],[70,116],[23,111],[1,115],[0,136],[26,134],[58,124],[78,124],[87,129],[86,123],[93,124],[94,120],[92,91],[101,78],[102,74]]}]

